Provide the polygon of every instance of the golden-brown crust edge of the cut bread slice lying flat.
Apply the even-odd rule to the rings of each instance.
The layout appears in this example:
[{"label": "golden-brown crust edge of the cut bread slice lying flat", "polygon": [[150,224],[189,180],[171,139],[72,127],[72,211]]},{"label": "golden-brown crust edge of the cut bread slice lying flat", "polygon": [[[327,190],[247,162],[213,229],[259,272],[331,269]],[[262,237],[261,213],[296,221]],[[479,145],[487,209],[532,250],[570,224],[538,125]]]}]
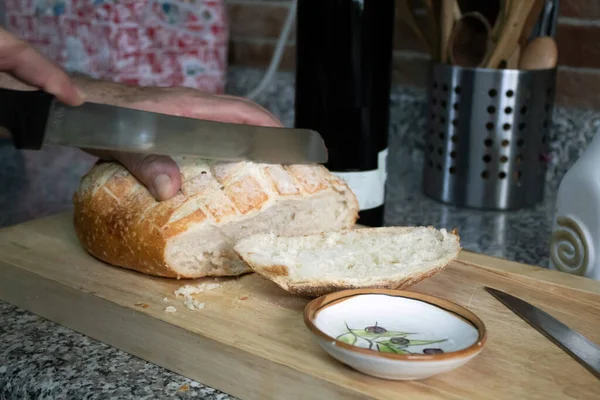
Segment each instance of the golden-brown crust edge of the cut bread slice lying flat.
[{"label": "golden-brown crust edge of the cut bread slice lying flat", "polygon": [[[395,228],[402,229],[400,227],[387,227],[383,229],[393,230]],[[435,229],[431,226],[428,228]],[[369,231],[376,231],[381,228],[363,228],[360,229],[361,232],[368,234]],[[427,271],[416,272],[406,276],[391,276],[389,278],[380,278],[377,280],[365,278],[363,282],[349,282],[347,280],[322,280],[322,281],[302,281],[302,282],[294,282],[289,278],[288,267],[285,265],[269,265],[269,264],[260,264],[252,261],[250,257],[245,256],[244,252],[239,251],[236,247],[234,247],[238,256],[259,276],[273,281],[277,286],[282,288],[283,290],[290,292],[295,295],[303,296],[303,297],[319,297],[329,293],[337,292],[340,290],[347,289],[392,289],[392,290],[402,290],[417,283],[432,277],[438,272],[445,269],[461,252],[462,248],[460,246],[460,236],[458,234],[457,229],[453,229],[448,232],[451,235],[456,237],[457,243],[459,244],[456,252],[452,254],[447,254],[440,263],[436,265],[434,268],[431,268]],[[306,236],[306,235],[304,235]],[[298,237],[301,239],[301,237]],[[323,271],[326,274],[326,271]]]}]

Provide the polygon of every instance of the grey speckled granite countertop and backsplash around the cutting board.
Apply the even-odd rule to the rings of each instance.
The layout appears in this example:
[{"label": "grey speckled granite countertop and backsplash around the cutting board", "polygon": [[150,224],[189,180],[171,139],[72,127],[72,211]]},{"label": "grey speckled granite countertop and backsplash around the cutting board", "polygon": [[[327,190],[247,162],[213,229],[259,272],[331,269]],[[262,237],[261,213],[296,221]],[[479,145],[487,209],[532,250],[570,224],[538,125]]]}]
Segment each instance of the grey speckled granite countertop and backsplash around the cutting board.
[{"label": "grey speckled granite countertop and backsplash around the cutting board", "polygon": [[[229,92],[243,94],[259,71],[232,70]],[[258,102],[293,124],[293,75],[280,73]],[[595,113],[557,110],[546,198],[514,212],[467,210],[426,198],[420,188],[423,95],[392,96],[386,225],[458,228],[465,249],[547,266],[557,183],[595,132]],[[70,208],[93,159],[77,150],[16,152],[0,143],[0,226]],[[202,398],[230,396],[0,301],[0,399]]]}]

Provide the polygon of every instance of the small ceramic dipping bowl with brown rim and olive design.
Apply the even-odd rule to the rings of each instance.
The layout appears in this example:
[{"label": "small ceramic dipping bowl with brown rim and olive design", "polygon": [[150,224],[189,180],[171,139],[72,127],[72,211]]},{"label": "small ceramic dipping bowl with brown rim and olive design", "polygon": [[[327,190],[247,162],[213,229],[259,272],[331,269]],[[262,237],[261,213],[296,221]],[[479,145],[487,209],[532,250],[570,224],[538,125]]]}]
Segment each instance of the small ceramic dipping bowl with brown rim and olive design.
[{"label": "small ceramic dipping bowl with brown rim and olive design", "polygon": [[338,361],[384,379],[456,369],[486,341],[483,322],[458,304],[403,290],[343,290],[311,301],[304,322]]}]

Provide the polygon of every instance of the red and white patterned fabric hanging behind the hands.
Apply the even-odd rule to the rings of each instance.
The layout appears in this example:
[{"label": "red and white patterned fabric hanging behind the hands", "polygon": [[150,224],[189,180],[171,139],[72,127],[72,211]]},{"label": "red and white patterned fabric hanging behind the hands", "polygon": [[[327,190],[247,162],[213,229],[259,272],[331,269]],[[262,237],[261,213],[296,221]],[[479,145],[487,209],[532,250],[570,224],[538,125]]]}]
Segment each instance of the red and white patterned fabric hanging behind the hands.
[{"label": "red and white patterned fabric hanging behind the hands", "polygon": [[223,0],[5,0],[5,27],[71,72],[223,93]]}]

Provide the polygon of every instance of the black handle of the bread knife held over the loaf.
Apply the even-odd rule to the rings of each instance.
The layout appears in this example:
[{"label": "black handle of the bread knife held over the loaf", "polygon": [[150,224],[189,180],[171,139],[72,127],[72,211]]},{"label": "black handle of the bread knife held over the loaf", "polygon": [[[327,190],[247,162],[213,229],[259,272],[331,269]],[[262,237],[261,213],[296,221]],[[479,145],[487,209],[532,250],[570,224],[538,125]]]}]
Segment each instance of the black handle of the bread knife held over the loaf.
[{"label": "black handle of the bread knife held over the loaf", "polygon": [[0,88],[0,126],[10,132],[17,149],[42,147],[53,100],[53,95],[42,90]]}]

